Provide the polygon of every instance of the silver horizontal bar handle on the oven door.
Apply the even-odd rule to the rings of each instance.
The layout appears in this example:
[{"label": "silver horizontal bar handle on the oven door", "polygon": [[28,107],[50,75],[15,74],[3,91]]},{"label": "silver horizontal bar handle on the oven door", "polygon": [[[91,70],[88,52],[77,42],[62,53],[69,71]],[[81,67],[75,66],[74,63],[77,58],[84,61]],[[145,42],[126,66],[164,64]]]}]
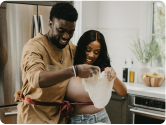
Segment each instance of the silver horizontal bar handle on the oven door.
[{"label": "silver horizontal bar handle on the oven door", "polygon": [[143,109],[143,108],[130,108],[130,111],[135,113],[135,114],[142,114],[142,115],[146,115],[146,116],[149,116],[149,117],[152,117],[152,118],[158,118],[158,119],[161,119],[161,120],[166,120],[166,113],[165,114],[161,114],[159,113],[158,111],[151,111],[151,110],[148,110],[148,109]]}]

